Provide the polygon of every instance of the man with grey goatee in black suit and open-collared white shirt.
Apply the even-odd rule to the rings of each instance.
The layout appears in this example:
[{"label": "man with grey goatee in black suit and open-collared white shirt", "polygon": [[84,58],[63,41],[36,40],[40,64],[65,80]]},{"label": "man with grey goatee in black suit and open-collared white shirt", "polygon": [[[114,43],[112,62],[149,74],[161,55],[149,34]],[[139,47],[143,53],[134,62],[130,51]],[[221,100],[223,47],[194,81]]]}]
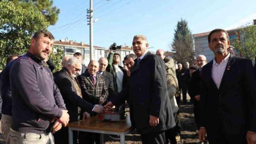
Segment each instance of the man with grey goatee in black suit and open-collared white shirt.
[{"label": "man with grey goatee in black suit and open-collared white shirt", "polygon": [[208,35],[214,59],[203,66],[199,139],[210,144],[256,143],[256,82],[252,62],[227,51],[223,29]]}]

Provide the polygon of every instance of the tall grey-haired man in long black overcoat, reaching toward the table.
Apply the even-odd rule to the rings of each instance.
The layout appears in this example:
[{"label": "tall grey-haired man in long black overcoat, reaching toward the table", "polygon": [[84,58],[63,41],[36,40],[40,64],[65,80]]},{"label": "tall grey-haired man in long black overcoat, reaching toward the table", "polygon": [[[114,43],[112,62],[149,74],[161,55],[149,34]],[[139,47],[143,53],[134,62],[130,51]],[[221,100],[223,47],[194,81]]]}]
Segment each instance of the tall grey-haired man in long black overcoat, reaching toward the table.
[{"label": "tall grey-haired man in long black overcoat, reaching toward the table", "polygon": [[147,38],[136,35],[132,48],[137,56],[128,85],[106,106],[129,99],[132,127],[137,129],[143,144],[164,144],[164,131],[175,126],[167,93],[163,60],[148,51]]}]

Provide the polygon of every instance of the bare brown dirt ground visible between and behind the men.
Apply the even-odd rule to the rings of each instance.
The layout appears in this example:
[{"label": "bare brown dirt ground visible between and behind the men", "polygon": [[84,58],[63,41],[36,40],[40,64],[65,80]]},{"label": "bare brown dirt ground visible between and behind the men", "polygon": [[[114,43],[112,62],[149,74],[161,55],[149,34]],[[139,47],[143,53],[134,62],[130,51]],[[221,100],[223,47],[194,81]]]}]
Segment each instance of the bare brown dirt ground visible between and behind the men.
[{"label": "bare brown dirt ground visible between and behind the men", "polygon": [[[189,100],[189,97],[187,96]],[[126,109],[126,113],[129,114],[129,109]],[[199,142],[197,138],[196,124],[194,123],[193,105],[189,103],[181,103],[180,106],[180,119],[181,119],[181,141],[179,144],[196,144]],[[104,136],[105,144],[119,144],[118,140],[113,140]],[[127,134],[125,136],[126,144],[141,144],[141,138],[139,134]],[[0,144],[5,144],[2,132],[0,131]]]}]

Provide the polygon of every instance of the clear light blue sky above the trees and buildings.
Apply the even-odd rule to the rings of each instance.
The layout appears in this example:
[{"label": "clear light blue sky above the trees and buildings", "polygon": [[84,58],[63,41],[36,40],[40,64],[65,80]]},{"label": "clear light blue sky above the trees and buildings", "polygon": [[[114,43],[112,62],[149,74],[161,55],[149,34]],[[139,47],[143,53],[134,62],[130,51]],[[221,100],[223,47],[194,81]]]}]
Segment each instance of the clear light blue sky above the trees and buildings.
[{"label": "clear light blue sky above the trees and buildings", "polygon": [[[54,0],[60,8],[59,20],[50,30],[56,40],[76,40],[89,44],[86,9],[90,0]],[[108,48],[131,46],[136,34],[148,38],[151,51],[170,51],[175,26],[188,21],[192,34],[215,28],[231,29],[256,19],[256,0],[94,0],[94,45]],[[77,22],[78,21],[78,22]],[[70,24],[73,23],[73,24]],[[67,25],[70,24],[70,25]],[[67,25],[65,27],[61,27]],[[61,28],[58,28],[61,27]]]}]

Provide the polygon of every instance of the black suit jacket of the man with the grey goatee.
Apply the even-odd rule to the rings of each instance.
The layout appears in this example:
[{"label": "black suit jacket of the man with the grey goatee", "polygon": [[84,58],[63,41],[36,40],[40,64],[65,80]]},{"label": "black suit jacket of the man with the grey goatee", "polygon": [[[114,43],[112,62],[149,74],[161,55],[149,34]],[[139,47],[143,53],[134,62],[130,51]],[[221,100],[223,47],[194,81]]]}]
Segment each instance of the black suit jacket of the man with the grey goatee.
[{"label": "black suit jacket of the man with the grey goatee", "polygon": [[233,144],[243,144],[247,131],[256,132],[252,62],[230,55],[219,89],[212,78],[212,66],[213,61],[202,69],[199,125],[206,128],[210,143],[222,133]]}]

